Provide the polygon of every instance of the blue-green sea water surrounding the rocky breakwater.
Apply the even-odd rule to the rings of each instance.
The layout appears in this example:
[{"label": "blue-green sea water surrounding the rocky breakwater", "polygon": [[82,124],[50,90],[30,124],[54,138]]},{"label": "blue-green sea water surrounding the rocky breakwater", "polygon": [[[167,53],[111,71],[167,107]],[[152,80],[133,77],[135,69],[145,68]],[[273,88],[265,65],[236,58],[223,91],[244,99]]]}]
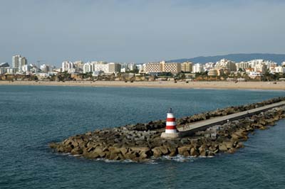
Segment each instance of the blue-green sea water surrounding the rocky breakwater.
[{"label": "blue-green sea water surrounding the rocky breakwater", "polygon": [[53,153],[51,141],[284,96],[284,91],[0,86],[0,188],[285,188],[285,120],[234,154],[152,163]]}]

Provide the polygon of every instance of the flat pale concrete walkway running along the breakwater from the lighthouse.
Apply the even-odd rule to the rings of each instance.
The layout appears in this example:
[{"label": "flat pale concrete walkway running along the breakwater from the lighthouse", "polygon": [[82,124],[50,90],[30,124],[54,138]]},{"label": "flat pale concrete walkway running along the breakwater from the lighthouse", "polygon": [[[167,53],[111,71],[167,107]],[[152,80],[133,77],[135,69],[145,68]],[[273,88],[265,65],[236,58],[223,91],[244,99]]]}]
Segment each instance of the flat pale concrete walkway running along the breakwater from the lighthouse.
[{"label": "flat pale concrete walkway running along the breakwater from the lighthouse", "polygon": [[259,114],[261,112],[265,112],[266,110],[273,109],[275,107],[281,107],[281,106],[285,106],[285,101],[277,102],[274,104],[269,104],[269,105],[266,105],[264,107],[258,107],[255,109],[250,109],[250,110],[244,111],[244,112],[229,114],[229,115],[223,116],[223,117],[217,117],[214,119],[207,119],[204,121],[199,121],[195,124],[189,124],[187,126],[183,126],[183,127],[178,128],[178,131],[180,131],[179,137],[191,136],[195,132],[203,131],[203,130],[211,127],[211,126],[225,124],[225,123],[227,123],[227,121],[234,121],[237,119],[242,119],[244,117],[249,117],[249,116],[252,116],[254,114]]}]

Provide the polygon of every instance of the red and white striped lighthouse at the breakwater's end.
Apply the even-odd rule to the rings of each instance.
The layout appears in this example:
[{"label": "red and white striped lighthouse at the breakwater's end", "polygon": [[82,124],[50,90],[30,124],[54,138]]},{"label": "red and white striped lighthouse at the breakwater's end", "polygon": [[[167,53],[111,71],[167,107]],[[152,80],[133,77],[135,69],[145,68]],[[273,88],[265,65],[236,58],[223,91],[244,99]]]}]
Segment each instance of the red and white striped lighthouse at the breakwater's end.
[{"label": "red and white striped lighthouse at the breakwater's end", "polygon": [[176,129],[175,117],[172,112],[172,108],[170,108],[169,112],[167,112],[165,132],[161,134],[161,138],[174,139],[177,138],[178,136],[179,136],[179,131],[177,131]]}]

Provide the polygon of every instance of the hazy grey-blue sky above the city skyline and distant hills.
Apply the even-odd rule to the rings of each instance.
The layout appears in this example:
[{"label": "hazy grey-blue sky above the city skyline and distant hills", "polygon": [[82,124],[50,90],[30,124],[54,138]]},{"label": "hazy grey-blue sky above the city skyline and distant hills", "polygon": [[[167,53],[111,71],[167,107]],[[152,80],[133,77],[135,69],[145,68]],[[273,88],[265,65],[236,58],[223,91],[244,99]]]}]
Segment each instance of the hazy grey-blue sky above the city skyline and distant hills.
[{"label": "hazy grey-blue sky above the city skyline and distant hills", "polygon": [[0,63],[285,53],[285,1],[0,0]]}]

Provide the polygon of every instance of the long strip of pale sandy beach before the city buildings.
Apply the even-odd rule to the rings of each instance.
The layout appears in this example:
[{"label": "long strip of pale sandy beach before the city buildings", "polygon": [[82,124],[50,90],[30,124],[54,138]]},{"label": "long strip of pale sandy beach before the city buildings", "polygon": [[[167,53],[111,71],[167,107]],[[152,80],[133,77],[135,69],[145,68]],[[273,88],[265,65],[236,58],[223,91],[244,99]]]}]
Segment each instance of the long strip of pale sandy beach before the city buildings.
[{"label": "long strip of pale sandy beach before the city buildings", "polygon": [[42,85],[42,86],[81,86],[81,87],[155,87],[155,88],[201,88],[236,90],[285,90],[285,82],[120,82],[120,81],[0,81],[0,85]]}]

